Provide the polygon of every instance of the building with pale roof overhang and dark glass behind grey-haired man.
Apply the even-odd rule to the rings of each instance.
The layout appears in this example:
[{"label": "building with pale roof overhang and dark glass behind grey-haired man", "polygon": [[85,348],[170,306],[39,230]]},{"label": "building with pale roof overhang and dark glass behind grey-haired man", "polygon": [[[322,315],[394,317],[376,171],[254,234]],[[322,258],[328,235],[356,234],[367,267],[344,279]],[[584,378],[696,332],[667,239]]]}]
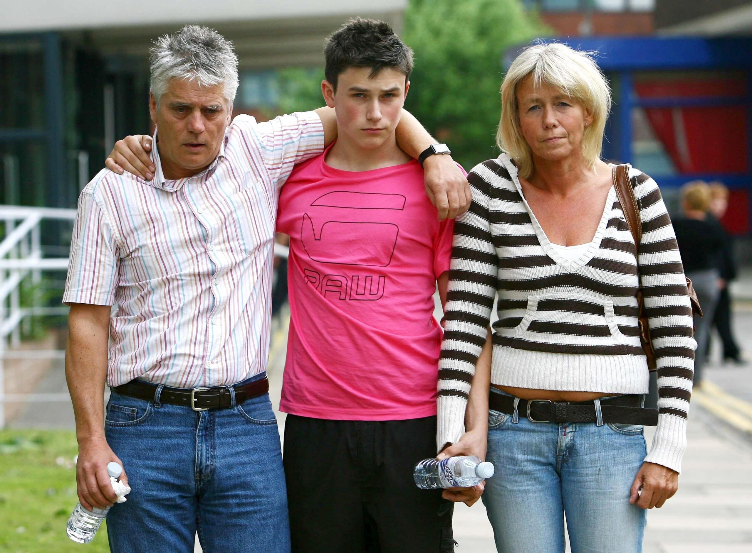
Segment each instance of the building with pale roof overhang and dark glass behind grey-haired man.
[{"label": "building with pale roof overhang and dark glass behind grey-haired man", "polygon": [[[0,18],[0,204],[75,207],[114,141],[150,132],[148,50],[186,23],[217,29],[240,59],[236,111],[274,104],[275,71],[323,65],[353,16],[402,24],[407,0],[27,0]],[[187,15],[186,15],[187,14]]]}]

